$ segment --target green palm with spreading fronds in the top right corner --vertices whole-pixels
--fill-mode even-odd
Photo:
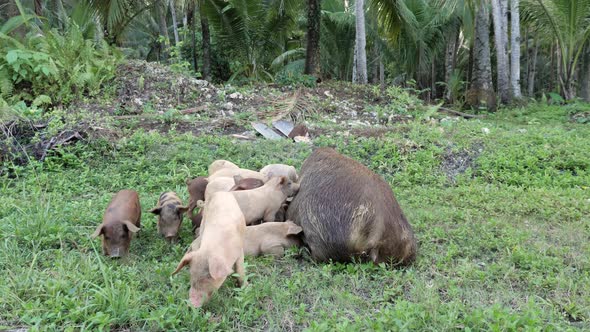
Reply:
[[[522,5],[523,19],[557,40],[562,94],[567,100],[575,98],[578,61],[590,39],[590,0],[524,0]]]

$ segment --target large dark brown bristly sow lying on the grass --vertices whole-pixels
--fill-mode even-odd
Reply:
[[[303,242],[314,259],[414,260],[412,227],[377,174],[333,149],[319,148],[303,163],[300,179],[287,218],[303,228]]]

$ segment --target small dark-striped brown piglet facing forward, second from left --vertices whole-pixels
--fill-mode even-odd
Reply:
[[[158,205],[150,212],[158,216],[158,233],[169,242],[178,241],[178,232],[182,225],[182,217],[188,210],[173,191],[162,193]]]

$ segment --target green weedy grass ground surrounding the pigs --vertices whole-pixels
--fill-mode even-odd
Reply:
[[[326,127],[333,146],[391,184],[419,242],[405,269],[317,264],[304,251],[247,258],[203,309],[189,275],[170,274],[190,222],[169,245],[147,210],[218,158],[299,168],[311,147],[222,135],[129,132],[10,167],[0,184],[0,330],[589,330],[590,127],[587,105],[529,106],[484,120],[412,120],[375,135]],[[319,121],[319,119],[316,119]],[[487,129],[487,130],[486,130]],[[139,192],[128,261],[90,234],[112,195]]]

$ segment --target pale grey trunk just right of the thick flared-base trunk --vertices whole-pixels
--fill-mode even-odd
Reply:
[[[494,20],[494,41],[496,45],[496,60],[498,74],[498,94],[502,104],[510,101],[510,82],[508,78],[507,27],[504,23],[506,0],[492,0],[492,18]]]

